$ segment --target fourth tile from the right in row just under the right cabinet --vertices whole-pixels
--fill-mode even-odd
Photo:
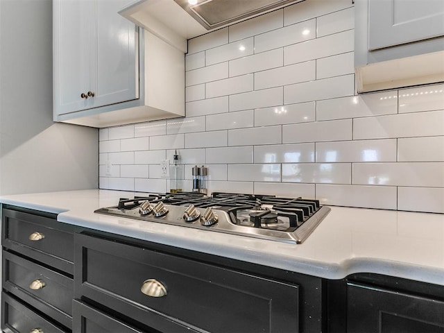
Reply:
[[[206,117],[207,130],[229,130],[253,127],[253,110],[213,114]]]

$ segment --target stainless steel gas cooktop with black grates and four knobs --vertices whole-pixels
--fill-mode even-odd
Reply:
[[[300,244],[330,208],[319,205],[318,200],[300,197],[178,192],[121,198],[118,205],[95,212]]]

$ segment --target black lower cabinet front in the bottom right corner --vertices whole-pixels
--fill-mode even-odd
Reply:
[[[348,333],[444,333],[444,302],[362,284],[347,287]]]

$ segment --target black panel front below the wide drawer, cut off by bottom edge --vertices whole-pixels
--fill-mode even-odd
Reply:
[[[142,333],[79,300],[73,301],[73,332],[76,333]]]

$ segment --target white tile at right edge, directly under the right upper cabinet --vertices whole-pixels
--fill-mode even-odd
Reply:
[[[400,113],[444,110],[444,85],[400,90]]]

